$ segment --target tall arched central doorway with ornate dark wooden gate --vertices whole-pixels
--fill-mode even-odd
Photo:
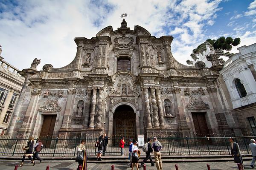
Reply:
[[[128,139],[136,139],[136,116],[130,106],[121,105],[116,108],[113,120],[113,135],[116,136],[115,146],[119,146],[121,136],[125,137],[125,145],[129,144]]]

